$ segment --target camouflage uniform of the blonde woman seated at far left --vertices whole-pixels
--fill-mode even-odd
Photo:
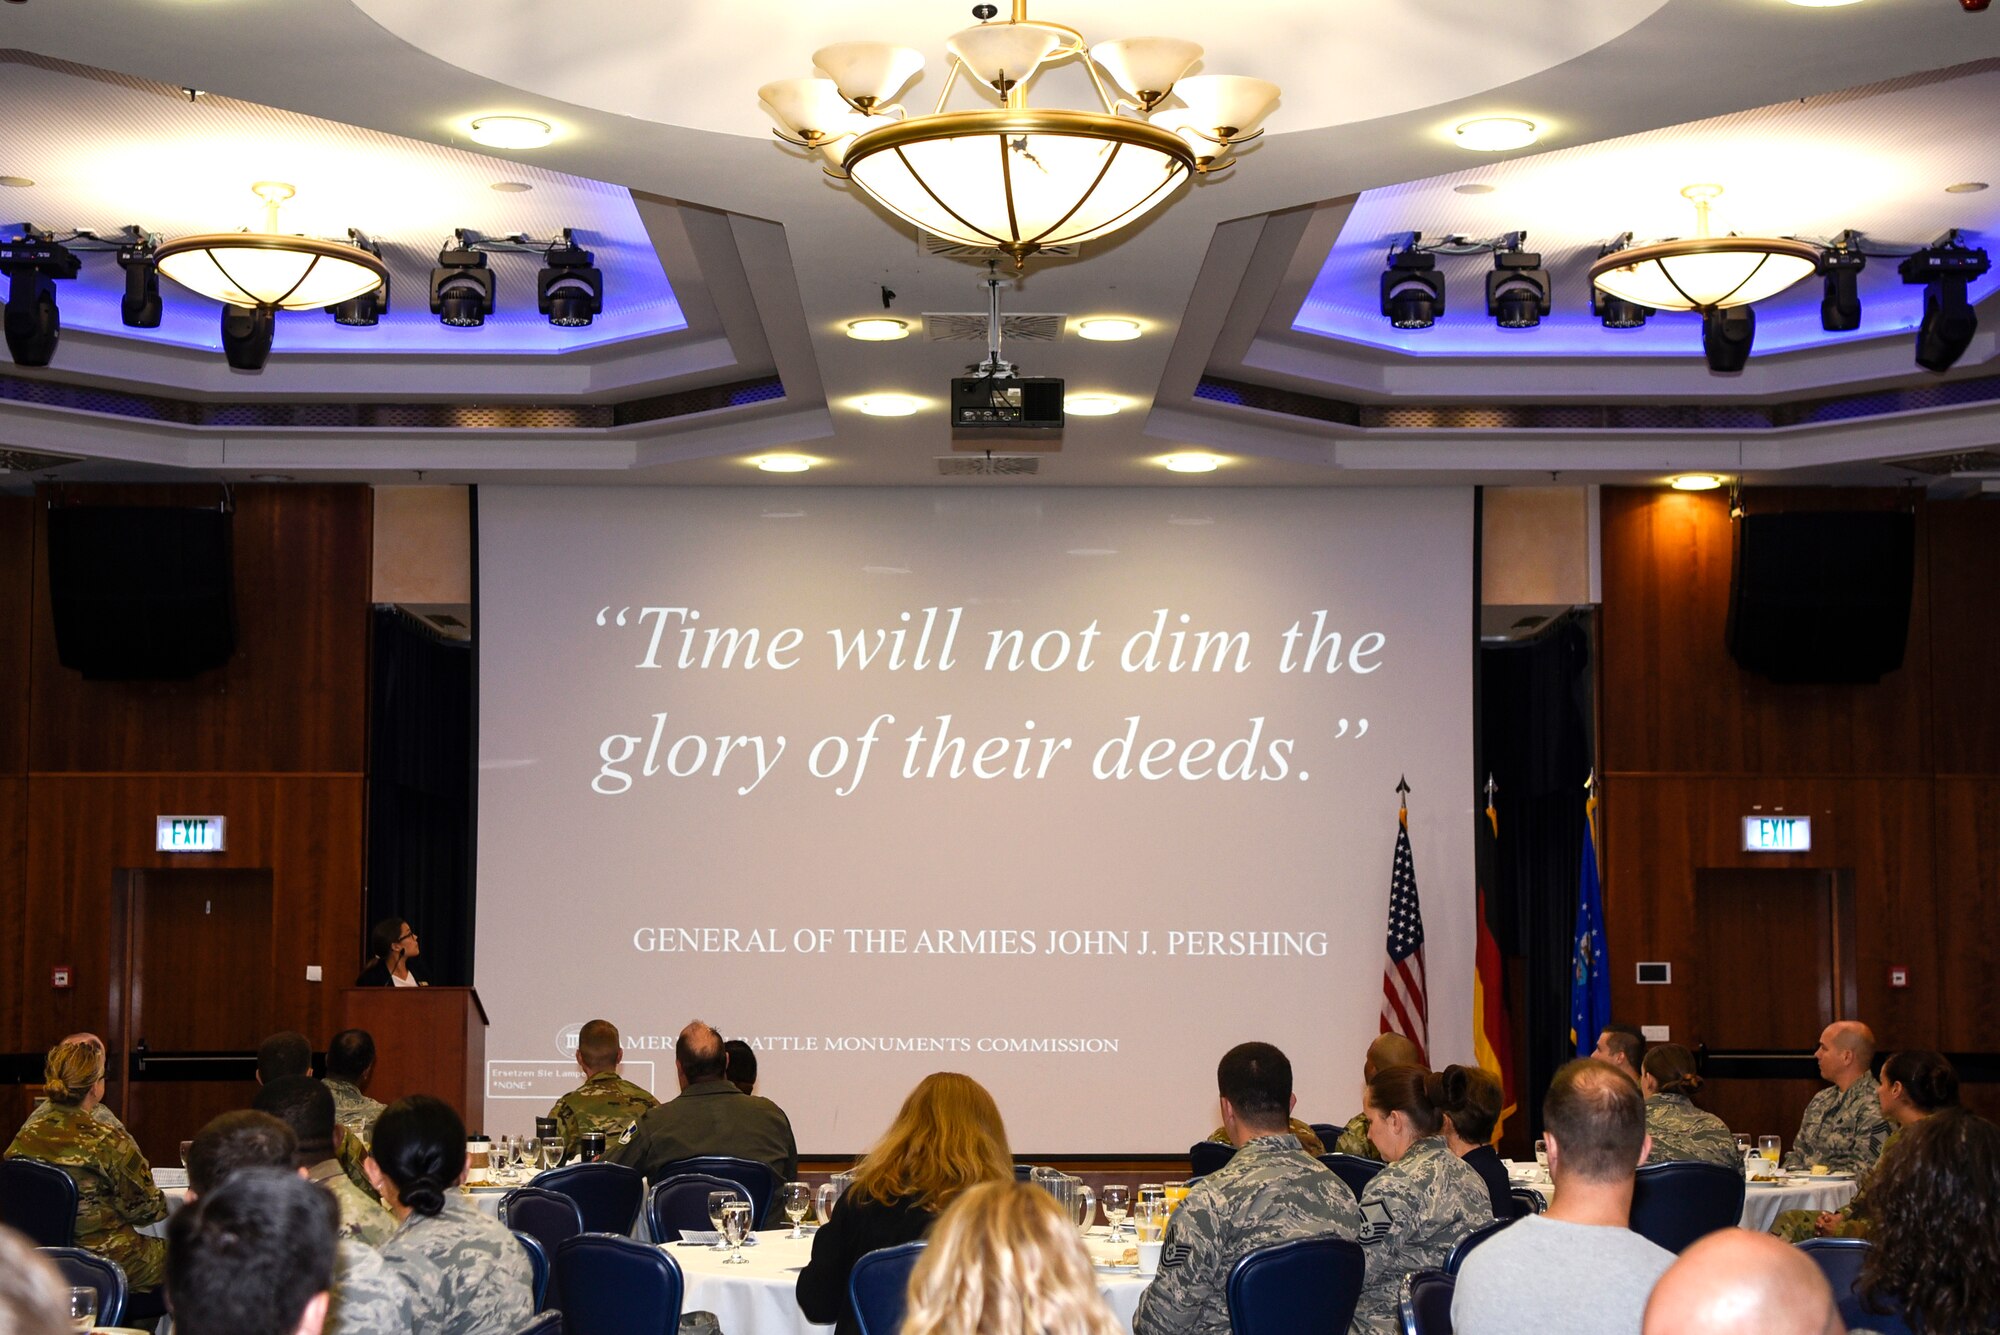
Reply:
[[[138,1141],[74,1103],[52,1103],[28,1119],[6,1157],[62,1167],[76,1179],[76,1245],[124,1267],[134,1289],[160,1287],[166,1241],[138,1229],[166,1219],[166,1197]]]

